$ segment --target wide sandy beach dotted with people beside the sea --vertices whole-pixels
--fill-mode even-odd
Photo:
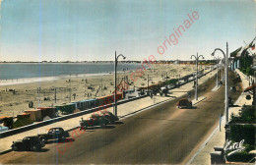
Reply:
[[[200,67],[199,67],[200,68]],[[204,66],[203,66],[204,69]],[[129,86],[129,89],[140,86],[147,86],[148,75],[150,83],[164,81],[166,76],[169,79],[178,79],[185,75],[192,74],[195,70],[193,65],[155,64],[151,70],[145,70],[142,77]],[[117,82],[125,77],[131,83],[129,71],[117,74]],[[13,80],[12,83],[3,83],[0,86],[0,116],[17,116],[25,110],[29,110],[29,102],[33,107],[49,107],[62,103],[96,98],[109,95],[114,90],[114,75],[94,75],[76,77],[55,77],[41,78],[33,83],[28,80]],[[18,84],[15,84],[18,83]],[[8,84],[8,85],[7,85]],[[56,88],[56,102],[54,100]],[[71,88],[71,90],[70,90]],[[14,92],[15,90],[15,92]],[[71,97],[70,97],[71,96]]]

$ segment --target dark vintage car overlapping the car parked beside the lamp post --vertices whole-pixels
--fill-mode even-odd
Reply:
[[[80,121],[81,129],[87,129],[88,127],[95,127],[100,126],[101,128],[104,128],[109,121],[106,117],[99,114],[93,114],[91,115],[87,120],[84,120],[83,118]]]

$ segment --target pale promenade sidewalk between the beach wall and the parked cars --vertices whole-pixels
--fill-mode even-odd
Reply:
[[[205,77],[201,78],[198,82],[199,84],[205,83],[208,79],[210,79],[212,76],[215,75],[216,71],[213,71],[212,73],[206,75]],[[184,84],[182,86],[180,86],[179,88],[175,88],[172,91],[189,91],[192,89],[193,83],[187,83]],[[118,105],[118,116],[122,117],[122,116],[126,116],[128,114],[132,114],[135,113],[137,111],[140,111],[141,109],[146,109],[149,106],[152,106],[154,104],[169,100],[169,99],[173,99],[175,97],[180,97],[183,94],[186,94],[186,92],[174,92],[173,94],[170,94],[170,96],[168,97],[161,97],[160,95],[154,96],[153,98],[150,97],[145,97],[145,98],[141,98],[138,100],[134,100],[131,102],[127,102],[121,105]],[[106,109],[107,111],[113,112],[113,108],[109,107]],[[47,126],[43,126],[37,129],[33,129],[30,130],[28,132],[24,132],[21,134],[17,134],[14,136],[10,136],[7,138],[0,138],[0,154],[1,152],[4,152],[6,150],[10,150],[11,149],[11,144],[14,140],[17,139],[22,139],[25,137],[29,137],[29,136],[35,136],[37,134],[44,134],[46,133],[46,131],[50,128],[54,128],[54,127],[62,127],[64,130],[72,130],[74,128],[79,127],[79,121],[81,120],[81,118],[83,117],[84,119],[87,119],[91,114],[87,114],[87,115],[83,115],[80,117],[76,117],[76,118],[72,118],[69,120],[65,120],[65,121],[61,121],[61,122],[57,122],[51,125],[47,125]]]

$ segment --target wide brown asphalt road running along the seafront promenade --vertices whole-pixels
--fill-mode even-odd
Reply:
[[[212,133],[218,125],[219,114],[224,112],[224,86],[212,92],[215,83],[212,78],[199,87],[199,95],[207,96],[207,99],[194,109],[178,109],[178,99],[170,100],[106,129],[75,130],[70,132],[73,135],[70,141],[51,141],[40,152],[9,152],[0,156],[0,162],[184,163]],[[237,99],[239,94],[240,91],[233,92],[232,99]]]

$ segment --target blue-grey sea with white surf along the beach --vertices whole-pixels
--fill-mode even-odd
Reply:
[[[117,72],[132,72],[141,64],[122,64]],[[114,64],[99,63],[12,63],[0,64],[0,85],[34,83],[68,77],[93,77],[114,74]]]

